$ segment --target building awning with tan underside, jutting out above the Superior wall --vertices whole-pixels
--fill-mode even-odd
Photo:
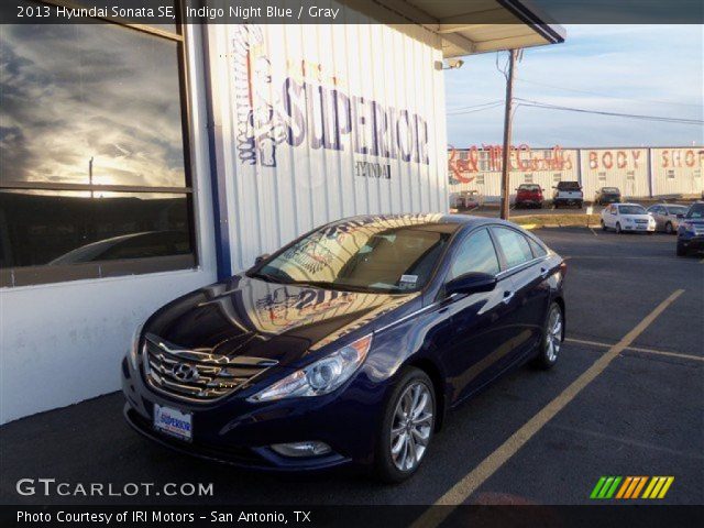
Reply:
[[[530,0],[378,0],[442,36],[446,58],[557,44],[564,29]]]

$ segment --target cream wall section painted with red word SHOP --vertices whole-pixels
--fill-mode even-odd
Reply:
[[[654,195],[696,195],[702,193],[704,148],[652,148]]]

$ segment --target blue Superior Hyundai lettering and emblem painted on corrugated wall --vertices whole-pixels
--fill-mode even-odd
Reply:
[[[241,164],[276,167],[279,148],[301,145],[364,156],[358,176],[391,178],[384,161],[430,164],[425,117],[352,94],[339,72],[302,57],[273,67],[262,26],[239,25],[232,56]]]

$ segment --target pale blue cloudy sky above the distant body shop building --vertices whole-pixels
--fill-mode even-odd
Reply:
[[[566,32],[564,44],[525,51],[515,97],[586,110],[704,119],[702,25],[566,25]],[[446,72],[451,145],[502,142],[506,85],[497,62],[503,68],[506,55],[468,57],[462,68]],[[704,128],[520,106],[513,142],[702,145]]]

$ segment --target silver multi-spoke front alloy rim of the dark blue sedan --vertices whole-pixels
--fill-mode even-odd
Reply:
[[[391,451],[400,471],[415,470],[432,432],[432,395],[428,386],[416,381],[408,385],[396,404],[392,421]]]

